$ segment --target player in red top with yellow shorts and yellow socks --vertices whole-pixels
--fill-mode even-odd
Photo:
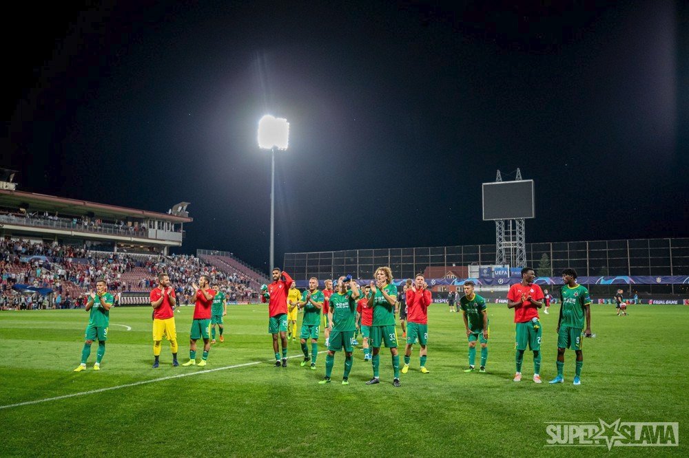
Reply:
[[[160,365],[158,358],[161,356],[161,341],[163,336],[167,337],[172,350],[172,365],[178,366],[177,362],[177,329],[174,324],[174,307],[177,299],[174,288],[170,287],[170,279],[167,274],[158,275],[158,287],[151,291],[149,295],[151,307],[153,307],[153,368]]]

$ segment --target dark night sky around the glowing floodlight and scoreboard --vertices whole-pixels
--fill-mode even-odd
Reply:
[[[267,269],[272,113],[278,263],[494,243],[497,168],[535,179],[528,242],[689,235],[686,2],[119,3],[7,12],[22,190],[189,201],[183,251]]]

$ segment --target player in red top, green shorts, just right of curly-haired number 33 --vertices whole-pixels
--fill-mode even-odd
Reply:
[[[418,339],[421,349],[419,356],[421,359],[420,370],[422,373],[429,373],[426,369],[426,358],[428,350],[426,343],[429,338],[429,305],[431,305],[431,292],[422,274],[418,274],[414,279],[413,285],[407,289],[407,349],[404,351],[404,367],[402,373],[409,371],[411,361],[411,346]]]

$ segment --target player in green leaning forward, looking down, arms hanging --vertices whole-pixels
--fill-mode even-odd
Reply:
[[[488,360],[488,336],[490,333],[488,309],[484,298],[474,291],[473,281],[464,282],[464,297],[460,298],[460,308],[462,309],[462,319],[466,337],[469,340],[469,369],[464,372],[473,372],[476,362],[476,341],[481,344],[481,366],[480,372],[486,371],[486,361]]]

